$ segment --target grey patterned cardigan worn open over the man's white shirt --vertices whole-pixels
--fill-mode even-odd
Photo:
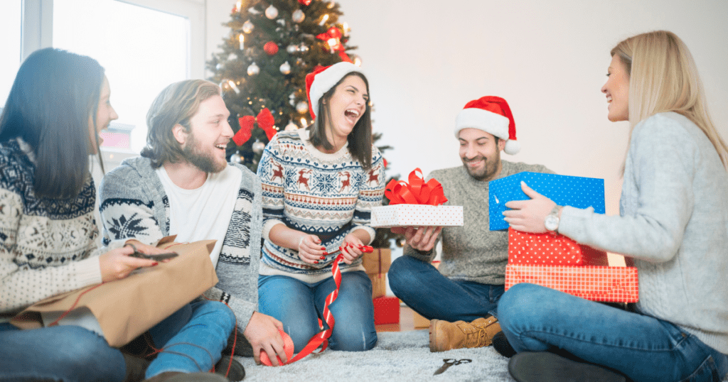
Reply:
[[[215,273],[218,284],[205,297],[228,303],[237,317],[237,326],[245,330],[258,308],[258,259],[260,258],[263,221],[261,186],[253,172],[239,164],[242,179],[230,224],[223,240]],[[125,159],[108,172],[99,189],[103,243],[134,238],[145,244],[157,244],[170,235],[170,205],[165,188],[141,156]]]

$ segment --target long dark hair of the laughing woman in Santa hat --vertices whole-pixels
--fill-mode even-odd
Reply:
[[[364,84],[366,85],[366,92],[369,94],[369,81],[367,81],[363,73],[352,71],[346,76],[341,77],[339,82],[336,82],[336,85],[333,85],[328,92],[325,92],[318,102],[316,120],[310,128],[311,138],[309,138],[309,142],[311,142],[313,146],[321,146],[326,150],[331,150],[333,148],[331,142],[329,142],[326,138],[326,122],[331,117],[331,109],[328,107],[328,103],[324,104],[324,101],[331,99],[331,96],[336,91],[336,87],[338,87],[339,84],[341,84],[341,82],[348,76],[359,76],[364,81]],[[360,117],[359,121],[357,121],[357,124],[355,124],[354,130],[352,130],[349,134],[347,140],[349,142],[349,153],[362,164],[364,170],[371,169],[372,140],[371,108],[369,107],[369,100],[366,100],[364,114]]]

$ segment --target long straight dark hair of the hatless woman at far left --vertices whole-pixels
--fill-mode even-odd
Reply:
[[[96,126],[103,76],[93,58],[54,48],[20,65],[0,114],[0,142],[22,138],[33,148],[36,197],[66,199],[84,187],[91,145],[98,148],[98,137],[89,142],[89,120]]]

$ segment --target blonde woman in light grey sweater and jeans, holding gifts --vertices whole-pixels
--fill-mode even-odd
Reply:
[[[533,284],[498,313],[518,352],[516,381],[722,381],[728,375],[728,147],[705,109],[689,50],[670,32],[612,49],[601,89],[609,120],[630,122],[620,216],[531,200],[504,213],[515,229],[556,231],[622,253],[639,269],[635,312]],[[553,219],[552,219],[553,220]],[[550,227],[553,228],[553,227]]]

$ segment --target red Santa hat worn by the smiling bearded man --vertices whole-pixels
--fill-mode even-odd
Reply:
[[[515,122],[506,100],[493,95],[472,100],[465,104],[455,119],[455,137],[460,130],[472,128],[488,132],[505,140],[506,154],[518,154],[521,143],[515,139]]]

